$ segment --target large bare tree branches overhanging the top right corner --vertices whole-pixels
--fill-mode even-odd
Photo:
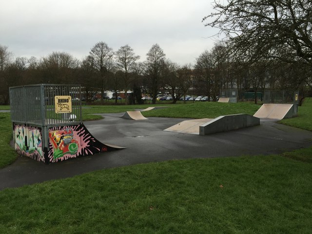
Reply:
[[[203,21],[220,29],[232,53],[251,62],[273,58],[311,69],[311,9],[311,0],[215,0],[214,13]]]

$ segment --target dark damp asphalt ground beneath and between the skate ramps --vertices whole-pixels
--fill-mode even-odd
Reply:
[[[312,132],[273,120],[262,119],[259,126],[199,136],[163,131],[186,119],[149,117],[147,120],[129,120],[120,118],[123,114],[103,114],[104,119],[84,124],[99,141],[126,149],[49,165],[20,156],[12,165],[0,169],[0,190],[138,163],[269,155],[312,145]]]

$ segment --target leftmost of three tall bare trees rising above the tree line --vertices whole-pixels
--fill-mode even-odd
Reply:
[[[107,43],[100,41],[96,43],[90,51],[90,56],[94,60],[94,66],[99,74],[98,87],[101,90],[101,103],[104,103],[104,91],[108,83],[108,72],[113,65],[113,48]]]

